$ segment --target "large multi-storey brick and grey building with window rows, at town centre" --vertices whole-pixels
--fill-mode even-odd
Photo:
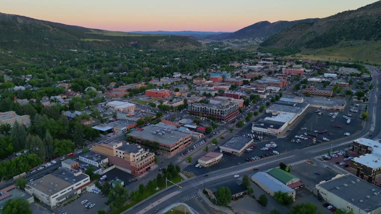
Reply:
[[[239,104],[231,101],[217,105],[193,103],[189,107],[189,112],[194,115],[201,114],[204,117],[212,116],[219,121],[229,121],[240,113]]]

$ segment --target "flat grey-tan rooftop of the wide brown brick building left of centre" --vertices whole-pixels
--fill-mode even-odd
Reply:
[[[128,133],[127,136],[151,142],[158,142],[165,145],[173,145],[180,139],[190,137],[191,135],[184,132],[160,128],[155,125],[149,125]]]

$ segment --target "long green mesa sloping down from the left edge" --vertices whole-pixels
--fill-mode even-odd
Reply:
[[[7,50],[113,47],[178,49],[200,46],[191,37],[90,29],[5,13],[0,13],[0,29],[0,48]]]

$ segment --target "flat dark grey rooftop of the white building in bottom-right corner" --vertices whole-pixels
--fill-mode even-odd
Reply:
[[[381,188],[351,174],[333,178],[316,186],[320,186],[366,213],[381,207]]]

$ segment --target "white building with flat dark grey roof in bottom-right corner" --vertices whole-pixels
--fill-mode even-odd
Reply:
[[[319,196],[337,209],[355,214],[381,213],[381,188],[354,175],[336,175],[316,185]]]

